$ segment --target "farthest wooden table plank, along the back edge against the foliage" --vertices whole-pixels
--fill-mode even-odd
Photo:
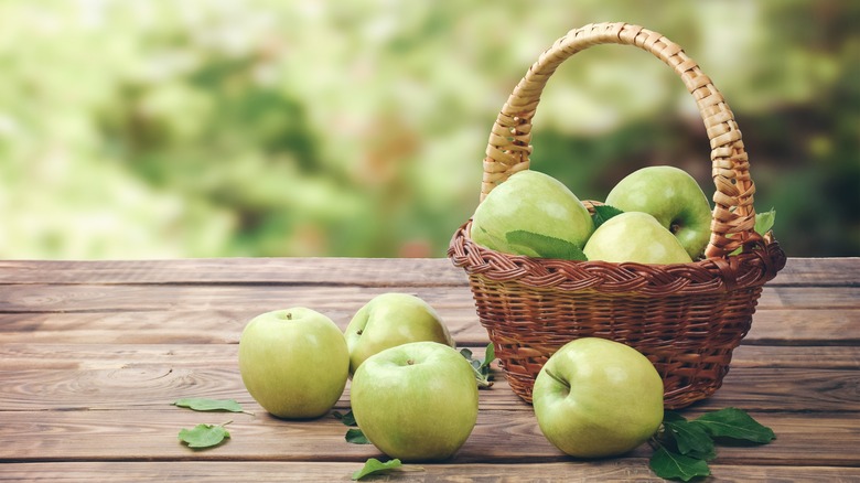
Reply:
[[[448,258],[0,260],[0,283],[282,283],[464,286]],[[768,286],[860,286],[860,257],[789,258]]]

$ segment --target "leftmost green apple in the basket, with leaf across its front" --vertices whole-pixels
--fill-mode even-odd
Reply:
[[[487,194],[472,216],[479,245],[510,255],[583,259],[594,222],[582,202],[539,171],[514,173]]]

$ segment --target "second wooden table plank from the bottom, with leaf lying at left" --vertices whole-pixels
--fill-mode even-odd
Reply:
[[[860,465],[860,419],[841,415],[751,412],[777,438],[757,447],[721,446],[716,464]],[[15,411],[0,425],[0,461],[341,461],[384,458],[372,444],[344,440],[346,427],[332,417],[284,421],[258,411],[203,414],[164,410]],[[181,444],[181,428],[228,426],[229,440],[209,451]],[[810,448],[816,451],[811,452]],[[649,458],[647,444],[626,458]],[[527,410],[482,410],[477,425],[451,463],[552,463],[569,460],[544,438]]]

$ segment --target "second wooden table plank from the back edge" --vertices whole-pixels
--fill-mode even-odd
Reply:
[[[316,307],[357,311],[374,296],[400,291],[433,307],[474,307],[464,287],[13,285],[3,287],[0,312],[164,310],[273,310]],[[765,287],[759,310],[860,309],[860,287]]]

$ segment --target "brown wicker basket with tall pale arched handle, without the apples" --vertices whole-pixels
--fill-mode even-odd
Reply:
[[[484,159],[481,200],[529,168],[531,119],[559,64],[606,43],[651,52],[675,69],[697,101],[716,186],[706,258],[642,265],[512,256],[473,243],[471,221],[454,234],[448,255],[465,269],[481,324],[510,387],[526,401],[556,350],[578,337],[599,336],[645,354],[664,379],[666,407],[680,408],[720,387],[732,351],[750,330],[763,285],[785,266],[772,236],[753,230],[755,189],[741,131],[698,65],[677,44],[641,26],[600,23],[570,31],[540,55],[499,112]],[[739,247],[740,255],[728,255]]]

